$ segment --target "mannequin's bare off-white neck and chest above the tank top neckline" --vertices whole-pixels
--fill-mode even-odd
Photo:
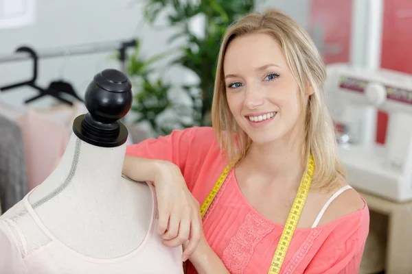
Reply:
[[[124,256],[148,234],[152,191],[122,177],[125,149],[89,145],[73,134],[56,169],[28,197],[49,232],[78,253]]]

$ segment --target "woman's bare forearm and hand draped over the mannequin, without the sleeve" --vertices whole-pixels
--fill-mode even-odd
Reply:
[[[135,181],[152,182],[159,212],[157,233],[168,247],[178,247],[189,240],[182,260],[190,257],[201,239],[202,219],[198,201],[187,188],[179,166],[166,160],[126,155],[122,172]]]

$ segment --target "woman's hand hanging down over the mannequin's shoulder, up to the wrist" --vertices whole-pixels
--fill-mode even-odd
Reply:
[[[183,245],[182,260],[196,250],[202,235],[199,203],[187,189],[178,166],[163,162],[154,180],[159,209],[158,233],[168,247]]]

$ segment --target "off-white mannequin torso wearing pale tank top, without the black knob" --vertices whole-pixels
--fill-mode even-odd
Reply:
[[[125,151],[72,134],[53,173],[1,216],[0,245],[12,239],[24,273],[183,273],[181,247],[157,234],[155,189],[121,175]]]

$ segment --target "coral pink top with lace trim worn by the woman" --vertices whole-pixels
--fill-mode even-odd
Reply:
[[[225,169],[210,127],[175,130],[127,148],[128,155],[168,160],[178,165],[187,186],[205,201]],[[203,218],[205,237],[230,273],[268,273],[284,226],[268,221],[244,198],[233,171],[229,173]],[[295,230],[281,273],[358,273],[367,234],[369,210],[362,210],[319,227]],[[196,273],[188,264],[188,273]]]

